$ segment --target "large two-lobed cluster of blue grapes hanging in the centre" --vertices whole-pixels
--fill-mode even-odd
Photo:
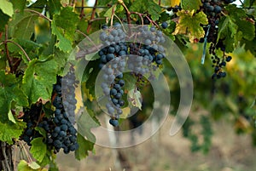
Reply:
[[[163,23],[163,27],[167,26],[167,23]],[[162,31],[154,26],[137,28],[134,37],[139,43],[125,42],[126,37],[120,24],[115,24],[111,29],[104,26],[100,34],[100,39],[105,45],[105,48],[98,52],[99,67],[104,73],[101,87],[103,93],[109,97],[106,108],[111,115],[109,123],[114,127],[119,125],[119,115],[123,112],[121,108],[125,105],[123,72],[126,63],[134,76],[140,78],[144,74],[151,74],[153,77],[152,70],[160,66],[165,57],[165,49],[160,45],[165,43],[165,37]]]

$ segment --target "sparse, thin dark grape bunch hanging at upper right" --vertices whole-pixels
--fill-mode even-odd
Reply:
[[[212,67],[214,68],[214,73],[212,74],[212,79],[226,77],[226,72],[224,67],[226,62],[230,62],[231,56],[225,54],[225,46],[223,40],[218,38],[218,21],[223,15],[224,6],[228,3],[234,3],[235,0],[201,0],[202,6],[201,10],[207,14],[208,26],[204,27],[206,32],[207,42],[211,43],[209,54],[212,55]],[[204,42],[204,39],[201,39]],[[205,42],[205,43],[207,43]],[[220,57],[217,55],[216,50],[220,49],[223,51],[223,55]]]

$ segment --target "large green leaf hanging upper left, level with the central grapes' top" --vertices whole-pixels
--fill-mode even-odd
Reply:
[[[67,22],[68,21],[68,22]],[[55,14],[51,23],[52,34],[57,37],[55,46],[63,52],[72,50],[73,34],[79,22],[78,14],[72,8],[61,9],[60,14]]]

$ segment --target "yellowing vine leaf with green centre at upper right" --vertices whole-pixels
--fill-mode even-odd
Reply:
[[[199,12],[195,14],[195,10],[185,11],[181,10],[177,12],[177,16],[179,16],[179,22],[174,35],[177,34],[189,34],[189,41],[191,43],[194,42],[195,38],[201,38],[205,36],[205,31],[202,28],[202,25],[207,25],[207,15],[203,12]]]

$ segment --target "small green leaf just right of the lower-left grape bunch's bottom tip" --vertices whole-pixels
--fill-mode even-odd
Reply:
[[[75,151],[75,157],[78,160],[82,160],[83,158],[88,156],[88,151],[93,150],[94,143],[84,139],[84,136],[82,136],[81,134],[78,134],[78,143],[79,149]]]

